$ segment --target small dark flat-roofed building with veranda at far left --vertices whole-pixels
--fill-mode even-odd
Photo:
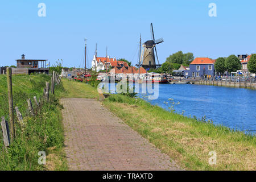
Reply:
[[[25,55],[22,55],[22,59],[17,59],[17,68],[15,68],[16,73],[22,73],[24,70],[27,71],[26,74],[30,73],[49,73],[49,67],[44,59],[25,59]],[[21,72],[19,72],[21,71]],[[25,73],[25,72],[24,72]]]

